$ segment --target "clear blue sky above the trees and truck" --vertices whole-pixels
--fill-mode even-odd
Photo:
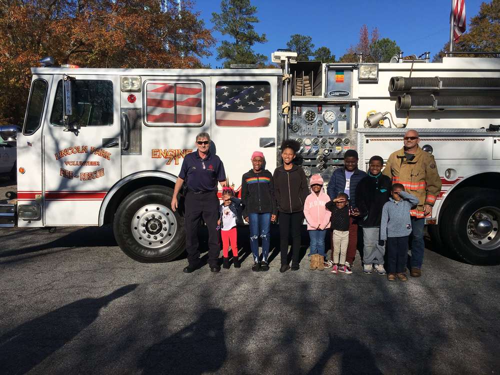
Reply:
[[[481,2],[465,0],[467,29]],[[257,7],[260,20],[255,29],[265,32],[268,40],[255,45],[254,51],[268,57],[277,48],[286,48],[294,33],[311,36],[315,48],[327,46],[340,57],[349,45],[357,43],[363,23],[370,31],[378,27],[380,37],[395,40],[405,55],[429,50],[432,57],[449,39],[451,0],[251,0],[251,3]],[[194,10],[200,12],[207,27],[212,27],[211,13],[220,11],[220,1],[195,0]],[[213,36],[217,39],[216,46],[219,45],[222,35],[214,31]],[[215,47],[212,56],[202,59],[212,68],[221,65],[215,58]]]

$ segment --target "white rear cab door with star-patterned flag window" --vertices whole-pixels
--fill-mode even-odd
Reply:
[[[264,154],[271,173],[276,167],[276,87],[276,77],[212,77],[211,137],[236,191],[253,151]]]

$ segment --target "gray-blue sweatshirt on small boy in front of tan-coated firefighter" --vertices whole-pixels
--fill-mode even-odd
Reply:
[[[399,194],[401,199],[392,197],[383,205],[380,221],[380,239],[387,237],[405,237],[411,233],[409,210],[418,203],[418,198],[406,191]]]

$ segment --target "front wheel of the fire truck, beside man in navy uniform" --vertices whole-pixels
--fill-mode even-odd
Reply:
[[[170,208],[172,189],[152,185],[130,193],[114,215],[118,246],[143,263],[164,262],[184,251],[184,220]]]

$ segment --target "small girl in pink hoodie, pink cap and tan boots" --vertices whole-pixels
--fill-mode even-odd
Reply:
[[[309,232],[309,269],[323,270],[324,265],[324,236],[326,228],[330,226],[331,212],[325,208],[325,204],[330,200],[329,196],[323,192],[323,179],[319,174],[311,175],[309,180],[311,193],[304,203],[304,216],[307,221],[307,231]]]

